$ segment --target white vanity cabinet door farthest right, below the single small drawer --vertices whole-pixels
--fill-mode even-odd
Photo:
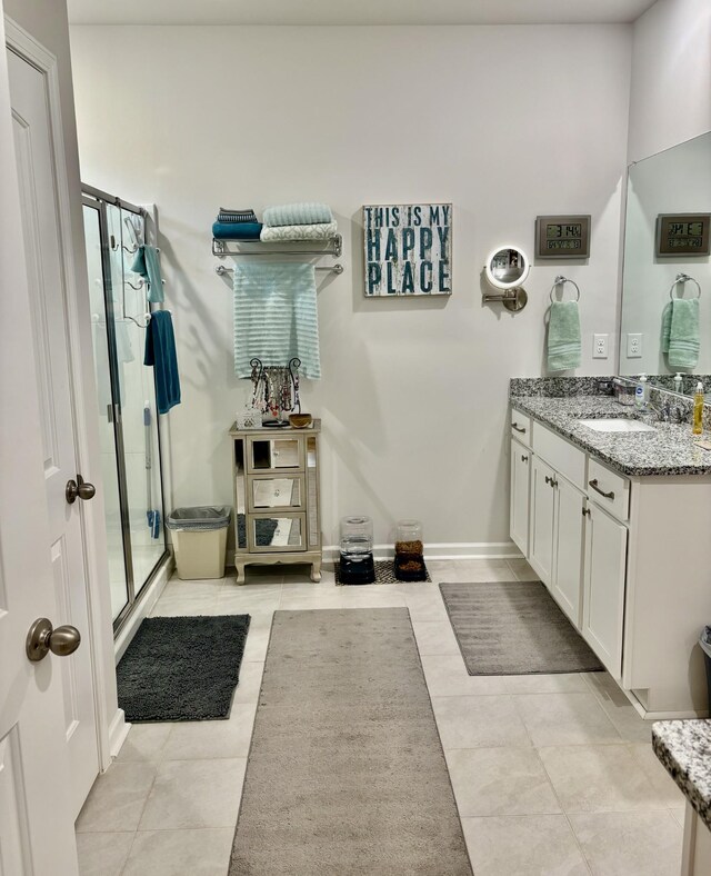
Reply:
[[[627,527],[593,502],[585,524],[582,635],[613,678],[622,673]]]

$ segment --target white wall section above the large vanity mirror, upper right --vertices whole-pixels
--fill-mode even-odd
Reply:
[[[711,130],[711,3],[658,0],[634,22],[629,160]]]

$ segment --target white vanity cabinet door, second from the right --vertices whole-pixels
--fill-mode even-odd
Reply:
[[[582,624],[582,548],[585,497],[558,476],[555,486],[555,563],[552,594],[578,629]]]

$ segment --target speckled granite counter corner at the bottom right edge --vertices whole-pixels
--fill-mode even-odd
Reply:
[[[652,747],[684,797],[711,828],[711,720],[662,720]]]

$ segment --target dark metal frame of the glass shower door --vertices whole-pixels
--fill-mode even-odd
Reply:
[[[118,207],[120,210],[126,210],[128,212],[133,213],[134,216],[140,216],[143,219],[143,227],[146,227],[146,210],[137,207],[129,201],[124,201],[120,198],[117,198],[113,195],[109,195],[106,191],[101,191],[101,189],[97,189],[93,186],[87,186],[86,183],[81,183],[81,202],[83,207],[89,207],[92,210],[96,210],[99,215],[99,235],[101,240],[101,278],[103,281],[103,307],[106,312],[106,325],[107,325],[107,340],[108,340],[108,352],[109,352],[109,374],[111,376],[111,425],[113,426],[113,441],[116,446],[116,456],[117,456],[117,475],[118,475],[118,485],[119,485],[119,507],[121,514],[121,540],[123,545],[123,564],[126,568],[126,586],[128,589],[128,601],[126,606],[121,609],[121,611],[117,615],[113,620],[113,637],[116,638],[121,628],[129,619],[129,617],[133,614],[134,609],[139,605],[141,599],[141,595],[146,594],[149,589],[149,585],[159,573],[161,565],[169,556],[170,551],[168,550],[168,544],[166,540],[166,534],[163,528],[163,551],[160,557],[157,559],[153,568],[146,577],[146,579],[140,585],[138,591],[136,589],[136,580],[133,578],[133,557],[132,557],[132,547],[131,547],[131,521],[130,521],[130,514],[129,514],[129,491],[128,491],[128,479],[127,479],[127,471],[126,471],[126,452],[124,452],[124,445],[123,445],[123,420],[121,417],[120,405],[117,404],[117,388],[120,387],[120,375],[119,375],[119,362],[117,356],[117,342],[116,342],[116,312],[114,312],[114,296],[113,296],[113,282],[111,279],[111,242],[109,240],[109,217],[107,211],[107,205],[112,205]],[[123,236],[121,236],[121,241]],[[121,243],[120,243],[121,246]],[[121,255],[123,258],[123,255]],[[123,289],[121,289],[121,296],[123,296]],[[123,300],[123,298],[121,298]],[[150,309],[150,305],[148,305]],[[163,481],[163,449],[161,446],[161,437],[160,437],[160,428],[158,424],[158,419],[156,419],[156,437],[158,441],[158,471],[159,471],[159,480],[161,486],[161,520],[166,520],[166,505],[164,505],[164,481]],[[161,525],[164,527],[164,522]]]

